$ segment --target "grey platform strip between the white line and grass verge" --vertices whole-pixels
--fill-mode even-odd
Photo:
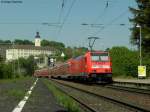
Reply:
[[[22,112],[65,112],[41,79],[38,80]]]

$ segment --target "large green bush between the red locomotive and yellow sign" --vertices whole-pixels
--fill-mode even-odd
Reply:
[[[113,47],[110,50],[113,75],[137,77],[138,53],[126,47]]]

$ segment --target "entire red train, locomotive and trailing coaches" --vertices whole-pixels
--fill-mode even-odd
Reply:
[[[112,82],[112,62],[107,51],[88,51],[54,67],[36,70],[36,77],[82,82]]]

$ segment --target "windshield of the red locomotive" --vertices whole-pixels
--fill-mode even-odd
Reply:
[[[92,61],[109,61],[108,53],[91,53]]]

